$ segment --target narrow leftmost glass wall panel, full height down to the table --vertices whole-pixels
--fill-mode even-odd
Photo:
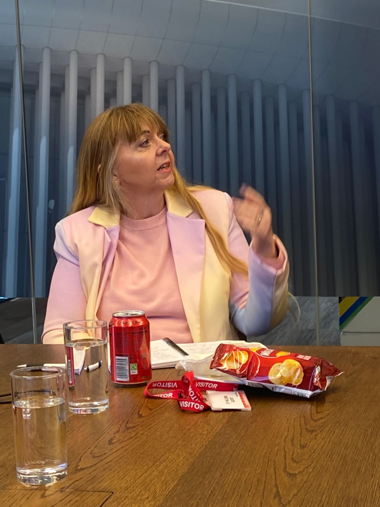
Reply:
[[[33,342],[15,3],[0,1],[0,342]],[[33,111],[25,107],[26,121]]]

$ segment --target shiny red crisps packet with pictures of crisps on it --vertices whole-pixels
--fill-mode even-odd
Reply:
[[[319,357],[224,343],[215,350],[210,368],[239,377],[252,387],[306,398],[325,391],[342,373]]]

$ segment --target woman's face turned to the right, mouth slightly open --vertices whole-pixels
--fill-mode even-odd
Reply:
[[[165,190],[174,184],[174,156],[162,132],[143,126],[141,136],[120,145],[113,174],[126,190]]]

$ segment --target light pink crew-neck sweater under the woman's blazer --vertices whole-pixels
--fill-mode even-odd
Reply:
[[[175,272],[166,207],[145,220],[123,217],[112,271],[98,318],[110,321],[119,310],[144,310],[150,339],[192,342]]]

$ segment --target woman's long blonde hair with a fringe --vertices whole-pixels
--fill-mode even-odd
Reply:
[[[70,214],[95,205],[111,213],[123,213],[129,205],[123,189],[115,183],[112,169],[115,166],[121,142],[134,142],[142,132],[142,126],[162,132],[169,138],[163,119],[142,104],[111,107],[100,114],[89,126],[83,138],[77,164],[77,190]],[[194,190],[186,184],[176,167],[173,167],[174,185],[170,191],[181,197],[201,219],[216,255],[226,270],[248,276],[247,265],[234,257],[227,248],[222,235],[207,219],[201,203],[194,197]]]

